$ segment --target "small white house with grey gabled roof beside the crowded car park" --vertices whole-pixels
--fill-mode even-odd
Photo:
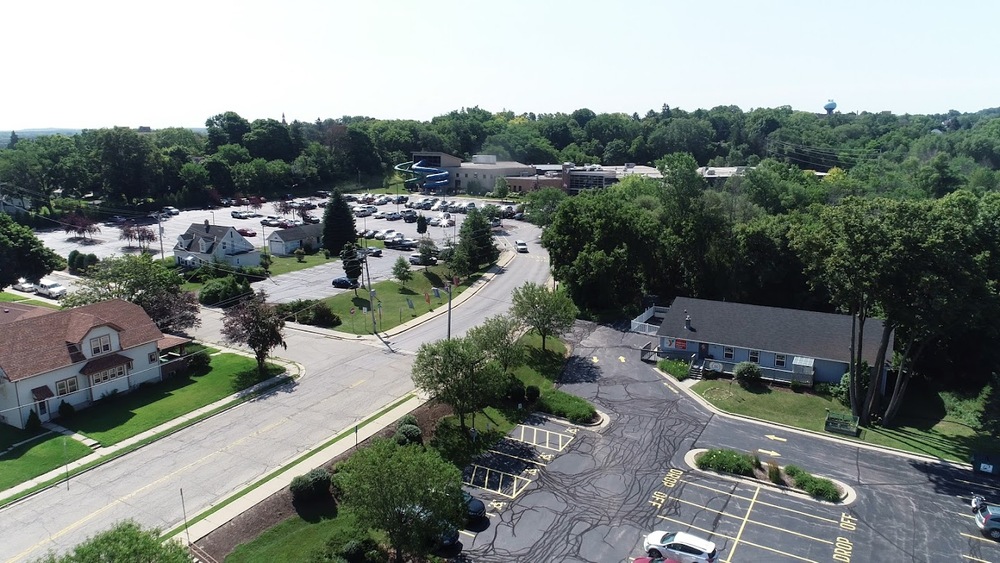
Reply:
[[[235,227],[192,223],[174,245],[174,261],[179,266],[197,268],[202,264],[225,262],[235,267],[260,266],[260,252]]]

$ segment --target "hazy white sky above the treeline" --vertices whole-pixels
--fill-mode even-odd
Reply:
[[[17,0],[0,130],[1000,106],[994,0]]]

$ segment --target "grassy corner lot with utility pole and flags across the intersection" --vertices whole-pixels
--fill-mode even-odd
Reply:
[[[374,258],[374,260],[378,260],[378,258]],[[382,260],[394,260],[394,258],[387,257],[382,258]],[[373,285],[376,319],[379,318],[378,306],[382,305],[381,320],[378,324],[379,332],[397,327],[424,313],[434,311],[438,307],[448,306],[448,293],[440,290],[439,296],[435,297],[432,289],[444,287],[448,279],[447,266],[442,264],[426,269],[423,266],[415,266],[411,271],[413,279],[405,286],[396,280],[381,281]],[[473,274],[461,280],[462,283],[455,289],[455,297],[469,289],[469,286],[481,276],[482,274]],[[340,295],[328,297],[324,301],[343,321],[343,324],[338,326],[336,330],[350,334],[371,334],[371,300],[369,300],[364,288],[359,289],[356,296],[354,293],[346,291]],[[430,304],[427,303],[425,294],[430,296]],[[406,302],[407,298],[413,302],[413,309],[409,308]],[[363,308],[368,308],[367,315],[362,312]],[[354,309],[353,315],[351,315],[351,309]]]

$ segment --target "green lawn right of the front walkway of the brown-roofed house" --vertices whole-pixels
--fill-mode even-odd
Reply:
[[[61,423],[102,445],[116,444],[232,394],[239,387],[236,382],[245,378],[242,374],[256,369],[251,358],[219,354],[212,356],[205,375],[178,374],[115,397],[108,404],[81,410]]]

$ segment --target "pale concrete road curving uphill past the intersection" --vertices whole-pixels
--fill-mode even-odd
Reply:
[[[514,287],[547,281],[544,250],[531,248],[454,309],[453,334],[506,312]],[[202,321],[195,336],[219,341],[219,314],[206,310]],[[394,353],[371,340],[288,330],[279,355],[304,366],[304,377],[0,510],[0,561],[63,552],[122,519],[181,524],[182,489],[187,514],[197,514],[411,392],[413,353],[446,332],[446,315],[436,316],[394,338]]]

